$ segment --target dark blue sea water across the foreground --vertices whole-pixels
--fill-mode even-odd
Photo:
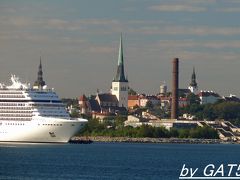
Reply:
[[[179,179],[183,165],[240,163],[234,144],[0,144],[0,179]]]

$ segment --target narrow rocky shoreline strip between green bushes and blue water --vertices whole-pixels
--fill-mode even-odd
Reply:
[[[74,142],[112,142],[112,143],[178,143],[178,144],[239,144],[234,141],[221,139],[195,139],[195,138],[130,138],[130,137],[109,137],[109,136],[74,136]]]

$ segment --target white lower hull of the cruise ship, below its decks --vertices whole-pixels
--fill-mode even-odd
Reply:
[[[40,118],[32,121],[0,121],[1,142],[66,143],[87,122],[85,119],[67,120]]]

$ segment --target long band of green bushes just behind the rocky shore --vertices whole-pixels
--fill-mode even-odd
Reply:
[[[121,117],[112,126],[109,122],[100,123],[98,119],[90,119],[88,124],[81,130],[79,135],[85,136],[110,136],[110,137],[151,137],[151,138],[206,138],[218,139],[216,130],[210,127],[197,127],[192,129],[176,129],[167,130],[165,127],[152,127],[142,125],[137,128],[131,126],[123,126]]]

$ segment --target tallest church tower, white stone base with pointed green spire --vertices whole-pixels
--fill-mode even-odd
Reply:
[[[120,36],[117,74],[112,81],[111,92],[119,102],[119,107],[128,108],[128,80],[124,75],[122,35]]]

